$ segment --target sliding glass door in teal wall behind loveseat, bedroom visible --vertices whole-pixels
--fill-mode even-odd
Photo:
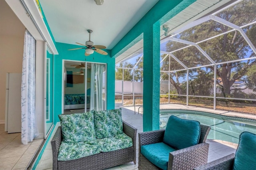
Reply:
[[[64,60],[63,113],[106,109],[106,64]]]

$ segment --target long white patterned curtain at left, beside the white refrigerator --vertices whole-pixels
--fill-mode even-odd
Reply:
[[[39,136],[36,125],[36,40],[25,31],[21,83],[21,142],[28,144]]]

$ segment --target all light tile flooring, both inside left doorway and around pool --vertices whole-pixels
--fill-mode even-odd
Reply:
[[[138,106],[139,107],[139,106]],[[136,113],[138,113],[138,107],[136,107]],[[119,108],[119,107],[116,107]],[[237,117],[246,117],[249,119],[256,119],[255,115],[245,115],[240,113],[228,112],[228,111],[218,111],[212,109],[205,109],[200,107],[187,107],[184,105],[167,104],[160,105],[160,109],[191,109],[198,111],[209,111],[221,115],[235,115]],[[140,109],[141,113],[142,109]],[[142,132],[142,115],[134,114],[134,107],[122,107],[122,118],[126,122],[130,123],[138,129],[138,132]],[[57,125],[56,127],[58,127]],[[54,134],[54,132],[53,132]],[[138,139],[138,136],[137,136]],[[4,132],[4,125],[0,125],[0,170],[24,170],[28,166],[32,156],[39,147],[42,139],[36,139],[33,142],[28,143],[28,145],[21,144],[20,133],[8,134]],[[207,140],[210,144],[208,162],[216,160],[223,156],[236,151],[237,144],[233,144],[226,141],[220,140]],[[138,148],[138,142],[137,142]],[[138,149],[137,149],[137,162],[138,162]],[[46,144],[42,158],[40,159],[36,170],[50,170],[52,169],[52,148],[50,142]],[[137,170],[138,163],[134,165],[132,162],[116,166],[114,168],[109,168],[109,170]]]

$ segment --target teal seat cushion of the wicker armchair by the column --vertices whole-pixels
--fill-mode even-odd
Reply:
[[[169,153],[176,149],[170,147],[164,142],[143,145],[140,148],[140,152],[145,156],[152,164],[157,167],[167,170]]]

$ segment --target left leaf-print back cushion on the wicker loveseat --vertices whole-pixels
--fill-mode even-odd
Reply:
[[[94,129],[94,111],[58,115],[64,142],[82,142],[96,139]]]

